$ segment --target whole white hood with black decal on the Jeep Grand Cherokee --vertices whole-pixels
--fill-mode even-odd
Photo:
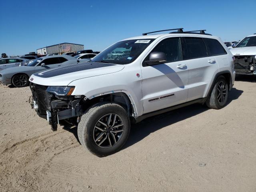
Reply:
[[[115,73],[123,68],[124,65],[84,62],[35,73],[30,77],[30,82],[46,86],[67,86],[74,80]]]

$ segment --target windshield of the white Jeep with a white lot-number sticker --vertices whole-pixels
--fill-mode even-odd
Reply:
[[[91,62],[129,64],[154,41],[154,39],[133,39],[120,41],[92,58]]]

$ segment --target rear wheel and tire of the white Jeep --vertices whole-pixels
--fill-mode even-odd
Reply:
[[[214,87],[210,92],[206,105],[212,109],[223,108],[228,100],[228,83],[224,76],[218,76],[214,82]]]

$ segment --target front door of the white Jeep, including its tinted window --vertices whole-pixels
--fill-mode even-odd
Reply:
[[[164,52],[167,62],[142,64],[143,113],[186,102],[188,96],[187,61],[182,60],[181,38],[167,38],[151,52]],[[148,60],[149,54],[145,60]]]

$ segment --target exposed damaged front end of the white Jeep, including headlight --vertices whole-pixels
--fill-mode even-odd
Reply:
[[[59,125],[75,126],[79,121],[84,96],[72,96],[74,87],[43,86],[30,83],[32,101],[38,116],[47,119],[53,131]]]

